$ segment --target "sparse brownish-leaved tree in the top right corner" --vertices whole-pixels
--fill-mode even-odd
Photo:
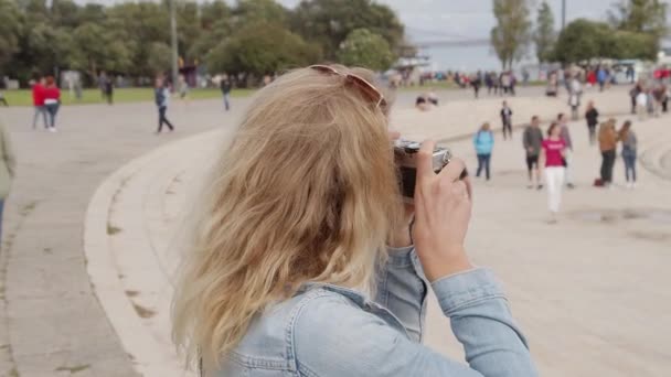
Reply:
[[[667,8],[661,0],[620,0],[608,15],[618,30],[647,33],[659,40],[668,33]]]

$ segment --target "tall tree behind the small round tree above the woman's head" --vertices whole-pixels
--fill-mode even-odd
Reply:
[[[354,30],[365,28],[382,35],[392,52],[403,43],[403,24],[394,11],[371,0],[302,0],[291,17],[291,29],[321,46],[329,60]]]

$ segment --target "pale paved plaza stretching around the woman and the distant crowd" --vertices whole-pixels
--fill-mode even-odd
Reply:
[[[548,120],[566,98],[521,90],[514,123]],[[470,136],[500,128],[500,97],[443,91],[429,112],[398,95],[392,125],[440,140],[475,172]],[[626,88],[588,91],[627,118]],[[61,129],[30,128],[32,109],[0,109],[19,157],[0,255],[0,376],[191,376],[170,343],[170,298],[191,203],[248,99],[174,101],[174,133],[156,136],[151,103],[65,107]],[[671,117],[633,122],[639,187],[590,186],[600,155],[571,125],[577,187],[547,224],[546,192],[526,188],[521,131],[497,134],[490,183],[475,181],[468,250],[503,282],[543,376],[665,376],[671,370]],[[432,299],[433,300],[433,299]],[[462,357],[429,304],[425,343]],[[420,373],[418,373],[418,376]]]

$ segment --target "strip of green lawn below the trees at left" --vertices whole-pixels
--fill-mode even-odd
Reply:
[[[33,99],[29,89],[20,90],[4,90],[4,98],[9,103],[9,106],[32,106]],[[232,97],[245,97],[254,93],[254,89],[234,89],[231,93]],[[212,89],[192,89],[189,91],[190,99],[211,99],[221,98],[222,93],[217,88]],[[77,101],[73,96],[70,95],[68,90],[61,90],[61,100],[63,105],[81,105],[81,104],[103,104],[100,90],[98,89],[84,89],[82,93],[82,99]],[[152,88],[119,88],[114,90],[115,103],[139,103],[139,101],[153,101],[153,89]]]

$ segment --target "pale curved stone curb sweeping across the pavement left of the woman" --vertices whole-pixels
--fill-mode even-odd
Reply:
[[[145,376],[183,376],[184,368],[175,365],[174,357],[167,355],[148,333],[137,315],[125,288],[113,268],[115,265],[108,235],[109,209],[115,195],[125,182],[162,155],[183,150],[184,144],[211,139],[220,130],[204,132],[172,142],[139,157],[109,175],[90,200],[84,222],[84,252],[93,291],[104,308],[119,340],[134,362],[135,369]]]

